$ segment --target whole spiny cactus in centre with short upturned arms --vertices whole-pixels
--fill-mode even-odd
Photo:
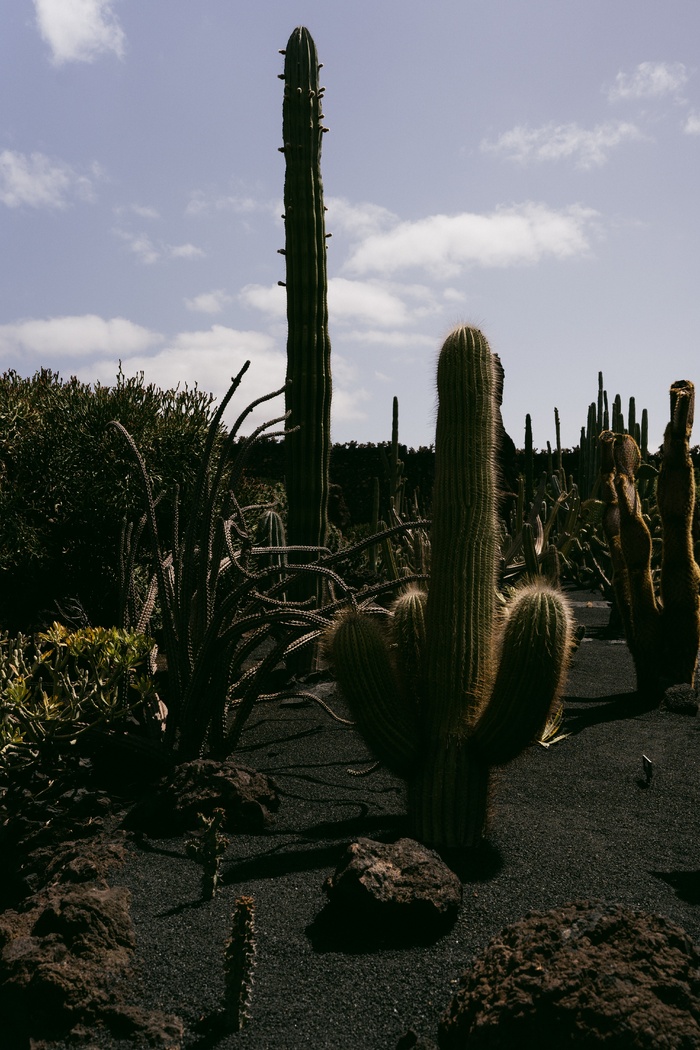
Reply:
[[[571,650],[563,595],[544,582],[496,594],[494,368],[486,339],[458,328],[438,363],[431,574],[385,630],[360,609],[328,639],[360,732],[408,784],[411,834],[437,848],[479,843],[489,771],[538,734]]]

